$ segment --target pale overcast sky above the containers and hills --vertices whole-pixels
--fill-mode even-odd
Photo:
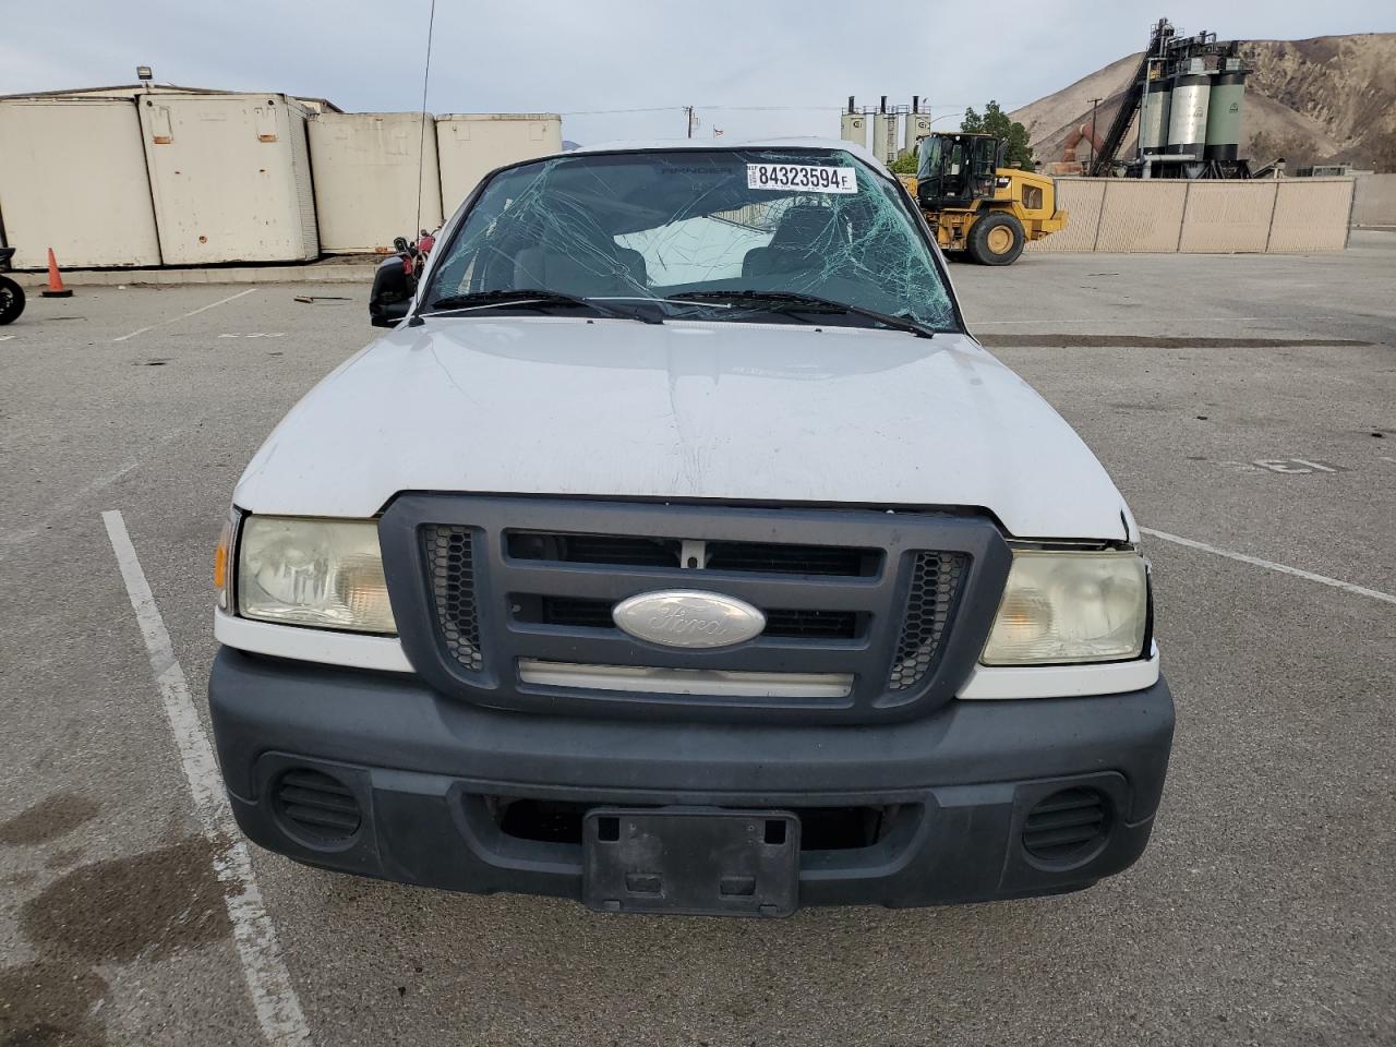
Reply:
[[[0,94],[162,82],[422,102],[430,0],[0,0]],[[938,126],[990,98],[1032,102],[1141,50],[1167,14],[1222,39],[1396,31],[1392,0],[437,0],[427,107],[554,112],[581,142],[698,134],[838,135],[847,96],[909,103]],[[1046,20],[1046,21],[1044,21]],[[660,109],[663,112],[597,112]]]

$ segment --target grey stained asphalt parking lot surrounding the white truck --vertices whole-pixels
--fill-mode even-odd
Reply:
[[[202,716],[233,483],[371,338],[366,288],[80,288],[0,328],[0,1044],[261,1043],[258,956],[297,1001],[288,1043],[1396,1043],[1396,235],[952,275],[1150,532],[1178,732],[1138,866],[723,921],[250,849],[276,948],[239,938],[172,680]]]

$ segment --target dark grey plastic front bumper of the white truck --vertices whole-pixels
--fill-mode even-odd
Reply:
[[[1160,680],[1092,698],[949,702],[878,726],[600,720],[490,711],[412,677],[222,649],[209,678],[218,758],[250,839],[310,864],[408,884],[582,896],[582,846],[524,839],[501,800],[613,807],[886,810],[868,846],[800,854],[801,905],[917,906],[1089,886],[1143,852],[1173,698]],[[359,825],[313,839],[278,805],[288,771],[331,775]],[[1100,843],[1071,861],[1023,846],[1064,789],[1099,797]]]

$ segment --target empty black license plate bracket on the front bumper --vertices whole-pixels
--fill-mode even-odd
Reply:
[[[582,821],[582,900],[606,913],[789,916],[800,819],[790,811],[597,807]]]

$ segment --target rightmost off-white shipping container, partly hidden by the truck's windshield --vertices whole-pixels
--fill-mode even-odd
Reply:
[[[557,113],[445,113],[437,117],[441,208],[461,207],[479,180],[505,163],[563,151]]]

